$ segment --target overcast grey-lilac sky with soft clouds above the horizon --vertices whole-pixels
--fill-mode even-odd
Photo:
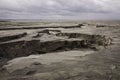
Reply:
[[[120,19],[120,0],[0,0],[0,19]]]

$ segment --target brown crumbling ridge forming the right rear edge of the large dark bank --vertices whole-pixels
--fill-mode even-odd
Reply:
[[[68,38],[79,38],[86,41],[88,44],[110,45],[112,38],[103,35],[90,35],[81,33],[58,33],[56,36],[63,36]]]

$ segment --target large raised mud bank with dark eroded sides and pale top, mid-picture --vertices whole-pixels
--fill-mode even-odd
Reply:
[[[51,32],[54,32],[51,33]],[[42,34],[42,35],[41,35]],[[47,52],[90,48],[98,50],[98,46],[108,46],[111,39],[101,35],[89,35],[81,33],[61,33],[59,30],[43,30],[31,36],[29,40],[21,39],[26,33],[3,38],[0,44],[0,57],[15,58],[31,54],[43,54]],[[67,38],[64,38],[67,37]]]

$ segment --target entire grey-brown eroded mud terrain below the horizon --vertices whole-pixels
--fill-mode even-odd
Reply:
[[[0,80],[120,80],[120,24],[0,22]]]

